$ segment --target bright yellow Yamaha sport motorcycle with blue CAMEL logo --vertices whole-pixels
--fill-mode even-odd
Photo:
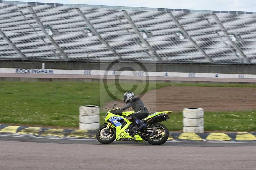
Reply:
[[[166,126],[158,122],[167,121],[171,111],[155,112],[148,117],[142,119],[146,123],[146,127],[137,132],[138,126],[128,120],[128,115],[134,111],[126,111],[121,114],[114,114],[114,107],[105,115],[105,122],[98,130],[96,137],[100,143],[109,144],[116,141],[148,141],[152,145],[164,144],[168,137],[169,131]]]

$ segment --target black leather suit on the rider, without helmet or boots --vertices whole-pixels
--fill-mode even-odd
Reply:
[[[128,116],[130,121],[135,121],[137,118],[143,119],[149,115],[147,107],[145,107],[144,103],[139,97],[132,97],[130,101],[120,110],[124,111],[130,107],[132,107],[135,111],[135,113]]]

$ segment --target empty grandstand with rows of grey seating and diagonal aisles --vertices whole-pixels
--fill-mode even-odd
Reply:
[[[255,15],[0,1],[0,59],[254,65]]]

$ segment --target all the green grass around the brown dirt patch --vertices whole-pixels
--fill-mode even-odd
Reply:
[[[122,98],[116,85],[108,84],[109,90]],[[124,89],[131,84],[121,83]],[[170,84],[150,83],[148,90],[164,86],[214,86],[256,87],[253,84]],[[135,93],[141,93],[144,84],[138,83]],[[103,84],[88,82],[0,82],[0,124],[44,125],[78,127],[78,107],[100,105],[113,100],[104,92]],[[101,113],[101,123],[105,113]],[[205,130],[255,131],[255,111],[206,112]],[[173,113],[168,122],[169,130],[182,130],[182,114]]]

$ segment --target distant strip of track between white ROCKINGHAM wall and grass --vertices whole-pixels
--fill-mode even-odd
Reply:
[[[9,78],[87,78],[103,79],[103,75],[71,75],[71,74],[19,74],[19,73],[0,73],[0,77]],[[108,76],[108,79],[115,79],[115,76]],[[123,80],[146,80],[145,76],[119,76]],[[256,83],[253,78],[196,78],[196,77],[155,77],[150,76],[150,80],[162,81],[202,81],[202,82],[237,82],[237,83]]]

